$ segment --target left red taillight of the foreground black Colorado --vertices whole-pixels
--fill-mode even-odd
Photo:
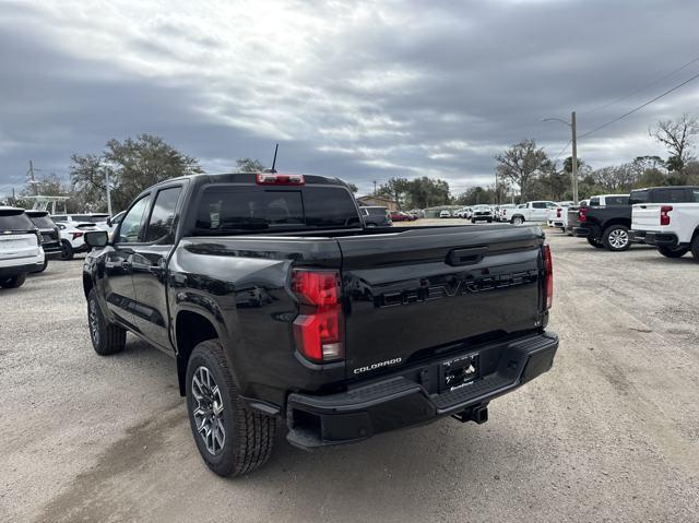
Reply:
[[[311,361],[323,364],[344,357],[340,273],[294,269],[292,289],[300,301],[294,320],[296,348]]]

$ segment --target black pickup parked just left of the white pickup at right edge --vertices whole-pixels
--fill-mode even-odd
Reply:
[[[570,215],[569,215],[570,221]],[[625,251],[631,246],[631,206],[628,194],[600,194],[577,211],[572,234],[595,248]]]

